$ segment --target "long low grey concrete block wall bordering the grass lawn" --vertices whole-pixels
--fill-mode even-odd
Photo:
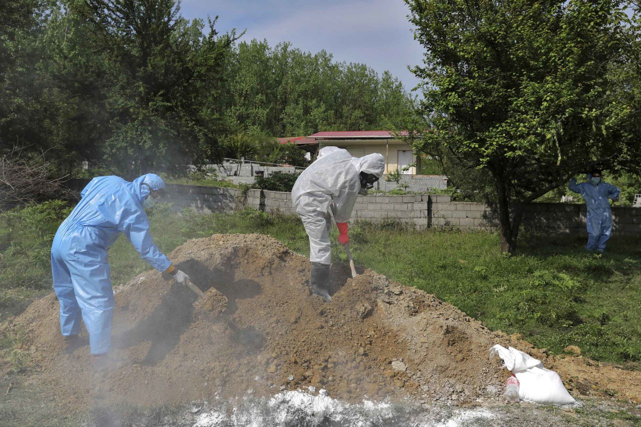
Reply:
[[[71,180],[67,186],[79,192],[89,180]],[[193,208],[199,212],[233,212],[251,207],[264,212],[296,213],[292,195],[251,189],[243,197],[236,188],[168,184],[169,201],[174,209]],[[78,197],[79,198],[79,197]],[[641,208],[612,208],[613,230],[641,235]],[[454,227],[465,230],[496,230],[497,209],[485,203],[461,203],[443,195],[358,196],[351,221],[400,221],[422,230]],[[526,207],[524,230],[549,233],[586,233],[585,205],[533,203]]]

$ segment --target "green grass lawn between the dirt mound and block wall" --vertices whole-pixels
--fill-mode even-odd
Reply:
[[[48,221],[38,219],[50,211]],[[40,205],[13,217],[0,215],[0,321],[50,289],[48,251],[65,212],[61,206]],[[297,253],[309,252],[301,222],[288,215],[245,210],[233,215],[185,211],[181,216],[160,206],[151,222],[154,241],[167,253],[213,233],[263,233]],[[615,233],[601,256],[583,249],[584,237],[523,236],[519,255],[504,256],[492,233],[360,223],[351,227],[350,237],[356,264],[435,294],[489,328],[520,333],[555,353],[573,344],[590,358],[640,368],[638,238]],[[344,260],[335,235],[332,242],[334,260]],[[110,249],[110,263],[115,286],[149,269],[123,237]]]

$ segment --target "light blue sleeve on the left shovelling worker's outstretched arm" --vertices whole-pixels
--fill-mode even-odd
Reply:
[[[169,269],[171,262],[154,244],[149,232],[149,218],[142,208],[137,209],[137,212],[131,212],[124,221],[120,222],[119,230],[127,236],[140,257],[154,269],[158,271]]]

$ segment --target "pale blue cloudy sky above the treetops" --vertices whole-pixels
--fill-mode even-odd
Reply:
[[[316,53],[322,49],[338,62],[360,62],[382,74],[388,70],[412,90],[419,81],[408,65],[422,63],[403,0],[182,0],[187,19],[219,15],[216,29],[246,30],[240,40],[267,40],[269,46]],[[414,94],[417,94],[414,92]]]

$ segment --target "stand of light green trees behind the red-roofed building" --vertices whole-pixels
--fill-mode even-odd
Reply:
[[[402,127],[412,100],[388,72],[334,62],[326,51],[303,52],[289,43],[241,42],[227,63],[226,118],[236,131],[278,137],[320,130]]]

